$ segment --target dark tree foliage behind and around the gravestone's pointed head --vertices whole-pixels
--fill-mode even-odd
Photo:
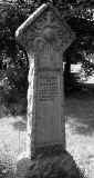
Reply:
[[[22,47],[17,44],[14,32],[30,13],[44,2],[52,2],[77,36],[66,56],[74,53],[72,58],[76,60],[80,58],[80,51],[85,50],[88,53],[93,51],[94,2],[92,0],[11,0],[11,2],[2,0],[0,3],[0,70],[3,71],[1,73],[4,73],[2,76],[8,80],[10,88],[25,90],[28,86],[25,82],[28,58]],[[83,67],[88,69],[86,65]]]

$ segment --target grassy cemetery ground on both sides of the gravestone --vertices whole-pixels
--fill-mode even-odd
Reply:
[[[0,178],[14,178],[17,156],[25,149],[25,99],[0,109]],[[65,97],[66,150],[73,156],[84,177],[94,177],[94,89],[73,91]],[[3,115],[6,112],[6,115]]]

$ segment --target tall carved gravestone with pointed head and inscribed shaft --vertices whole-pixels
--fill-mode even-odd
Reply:
[[[17,168],[17,177],[24,178],[33,159],[65,150],[62,60],[75,36],[52,4],[42,4],[15,37],[29,57],[27,152]]]

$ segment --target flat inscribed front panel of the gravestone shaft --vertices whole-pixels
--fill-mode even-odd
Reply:
[[[36,146],[64,144],[63,80],[61,71],[41,71],[36,86]]]

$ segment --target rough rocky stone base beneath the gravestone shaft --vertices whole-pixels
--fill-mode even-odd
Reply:
[[[82,178],[72,156],[66,151],[55,156],[38,155],[30,160],[27,156],[17,165],[15,178]]]

